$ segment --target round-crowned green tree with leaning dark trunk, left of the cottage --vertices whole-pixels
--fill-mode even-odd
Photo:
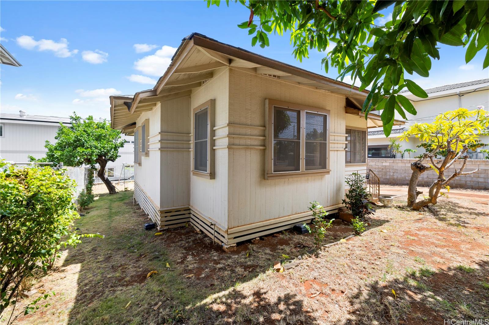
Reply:
[[[71,126],[60,123],[54,144],[46,141],[47,161],[64,163],[67,166],[79,167],[83,164],[95,168],[99,165],[97,176],[105,183],[110,194],[117,193],[115,186],[105,176],[105,166],[115,161],[119,149],[124,146],[121,132],[111,128],[107,121],[94,121],[92,116],[83,120],[73,113],[70,116]]]

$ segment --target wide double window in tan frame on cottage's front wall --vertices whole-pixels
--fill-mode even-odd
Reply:
[[[265,178],[329,173],[329,110],[267,100]]]

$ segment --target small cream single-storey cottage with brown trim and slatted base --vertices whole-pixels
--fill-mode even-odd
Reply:
[[[381,125],[367,94],[194,33],[153,89],[111,96],[111,122],[134,134],[134,197],[158,228],[233,245],[342,206]]]

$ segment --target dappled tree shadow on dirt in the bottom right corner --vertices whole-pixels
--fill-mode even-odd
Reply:
[[[403,279],[375,282],[349,297],[352,324],[444,324],[444,319],[473,320],[489,315],[489,262],[476,268],[437,272],[407,269]],[[395,292],[395,295],[393,291]],[[341,323],[344,324],[344,323]]]

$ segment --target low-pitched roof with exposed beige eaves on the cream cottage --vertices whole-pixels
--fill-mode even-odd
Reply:
[[[112,127],[125,133],[132,132],[133,127],[130,126],[142,112],[152,110],[157,102],[168,97],[191,93],[192,89],[202,85],[202,81],[211,79],[215,69],[225,66],[252,69],[257,74],[282,81],[345,95],[359,106],[368,94],[368,91],[360,91],[348,83],[192,33],[182,40],[155,87],[134,96],[110,97]]]

